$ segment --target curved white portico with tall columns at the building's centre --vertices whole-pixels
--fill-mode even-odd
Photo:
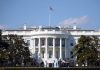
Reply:
[[[31,36],[30,49],[32,54],[37,54],[38,57],[47,63],[57,63],[58,59],[66,57],[66,40],[68,34],[62,31],[38,31]]]

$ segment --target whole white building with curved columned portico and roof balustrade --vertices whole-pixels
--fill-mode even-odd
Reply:
[[[100,38],[100,31],[82,30],[68,27],[33,27],[16,30],[3,30],[2,35],[22,35],[29,45],[32,57],[37,57],[44,63],[45,67],[58,67],[59,60],[74,60],[72,48],[78,43],[81,35],[97,36]]]

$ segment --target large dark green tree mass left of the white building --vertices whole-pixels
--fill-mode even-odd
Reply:
[[[0,66],[26,66],[30,52],[22,36],[5,35],[0,41]]]

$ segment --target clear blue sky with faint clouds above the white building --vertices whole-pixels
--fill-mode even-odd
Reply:
[[[49,14],[51,26],[100,29],[100,0],[0,0],[0,28],[48,26]]]

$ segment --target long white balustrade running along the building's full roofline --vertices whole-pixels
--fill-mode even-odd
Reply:
[[[17,35],[35,35],[35,34],[68,34],[66,31],[56,31],[56,30],[37,30],[37,31],[4,31],[3,35],[7,34],[17,34]],[[71,35],[100,35],[100,31],[73,31],[70,32]]]

